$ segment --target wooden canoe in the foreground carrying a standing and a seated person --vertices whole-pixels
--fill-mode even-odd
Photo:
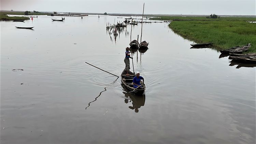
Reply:
[[[128,70],[128,73],[130,75],[126,75],[126,69],[124,69],[124,71],[121,74],[121,81],[122,84],[129,90],[129,91],[133,91],[135,88],[133,87],[132,81],[133,78],[136,76],[135,74],[133,74],[130,70]],[[143,83],[142,81],[140,81],[141,84]],[[136,89],[134,93],[136,94],[143,94],[143,92],[145,91],[146,86],[142,85],[142,89]]]

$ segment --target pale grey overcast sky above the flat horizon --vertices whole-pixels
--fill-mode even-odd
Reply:
[[[81,13],[256,15],[255,0],[1,0],[1,10]]]

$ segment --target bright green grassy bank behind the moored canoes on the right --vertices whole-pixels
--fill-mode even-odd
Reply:
[[[251,43],[252,46],[246,53],[256,52],[256,23],[243,20],[172,21],[169,27],[196,43],[216,42],[214,47],[217,50]]]

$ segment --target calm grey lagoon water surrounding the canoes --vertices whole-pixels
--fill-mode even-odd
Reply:
[[[144,23],[149,49],[132,56],[146,91],[136,96],[85,62],[119,76],[141,23],[114,37],[106,23],[124,17],[51,18],[61,17],[1,21],[1,144],[255,143],[256,65]]]

